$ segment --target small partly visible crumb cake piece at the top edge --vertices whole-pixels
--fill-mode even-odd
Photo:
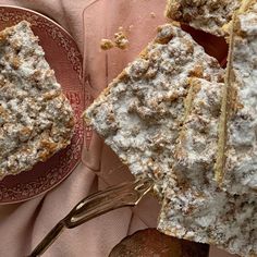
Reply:
[[[166,15],[217,36],[224,36],[222,28],[232,20],[242,0],[168,0]]]

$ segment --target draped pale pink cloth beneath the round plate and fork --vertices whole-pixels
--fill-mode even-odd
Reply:
[[[73,35],[81,50],[82,13],[88,2],[89,0],[0,0],[0,4],[33,9],[56,20]],[[20,257],[29,254],[79,199],[106,187],[107,184],[132,180],[127,169],[96,134],[91,140],[90,152],[85,150],[84,155],[86,162],[81,163],[53,191],[23,204],[0,206],[0,256]],[[65,231],[44,256],[108,256],[111,248],[127,234],[155,227],[158,208],[156,200],[146,198],[134,209],[111,211],[76,229]],[[229,257],[223,252],[211,252],[215,257]]]

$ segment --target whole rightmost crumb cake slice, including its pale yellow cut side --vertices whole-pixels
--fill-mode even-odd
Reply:
[[[234,194],[257,193],[257,2],[235,16],[220,120],[216,179]],[[227,102],[227,105],[225,105]],[[229,102],[229,105],[228,105]],[[220,150],[221,150],[220,149]]]

